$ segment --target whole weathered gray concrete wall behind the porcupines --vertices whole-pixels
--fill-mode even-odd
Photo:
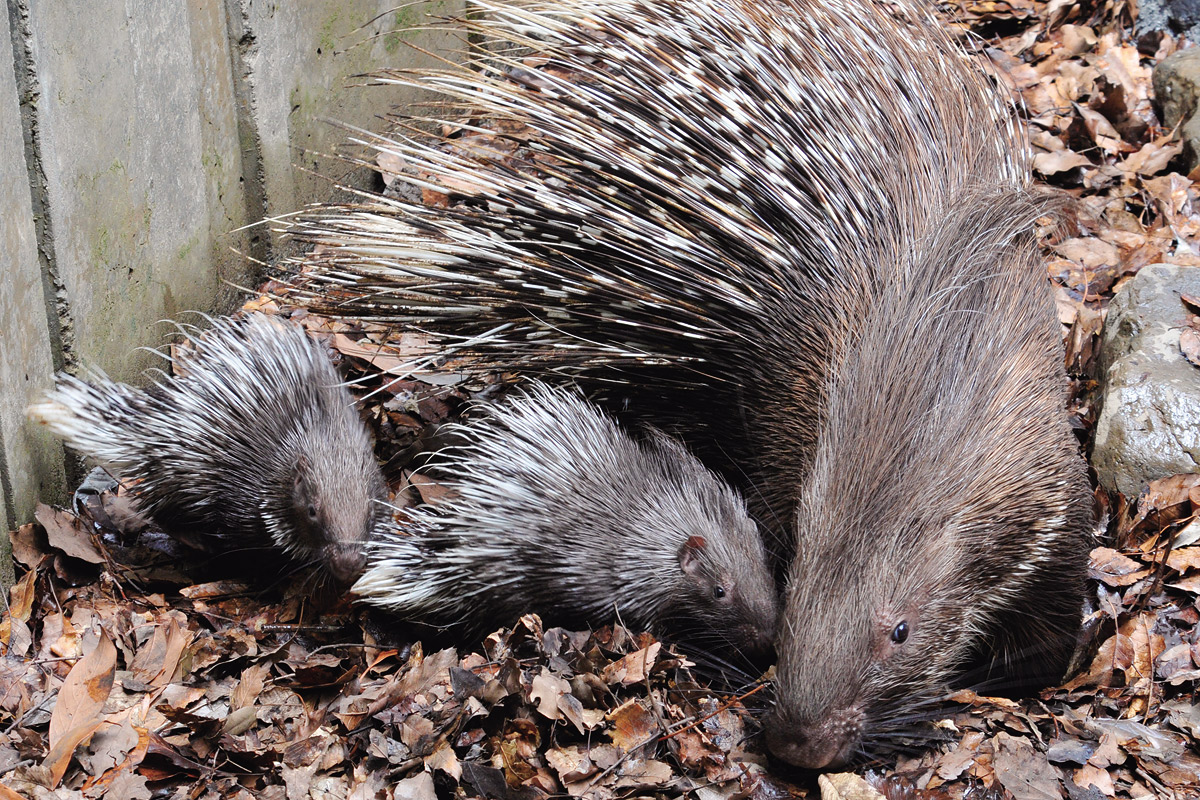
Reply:
[[[73,459],[23,415],[53,373],[90,366],[137,381],[155,363],[138,348],[161,343],[158,320],[230,309],[230,284],[258,278],[245,255],[277,255],[269,228],[251,223],[331,198],[331,179],[371,180],[316,155],[347,136],[330,120],[379,130],[380,114],[414,100],[355,76],[434,64],[421,49],[455,58],[449,31],[415,29],[462,4],[8,0],[0,525],[65,499]]]

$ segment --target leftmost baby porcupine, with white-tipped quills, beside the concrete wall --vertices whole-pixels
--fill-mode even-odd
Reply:
[[[29,415],[133,481],[168,533],[277,547],[342,582],[385,521],[386,486],[354,399],[304,329],[263,314],[190,338],[145,390],[62,374]]]

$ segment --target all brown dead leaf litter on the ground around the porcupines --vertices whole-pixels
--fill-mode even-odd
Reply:
[[[1067,235],[1048,227],[1045,253],[1086,435],[1112,293],[1146,264],[1200,265],[1195,175],[1178,172],[1150,82],[1178,42],[1135,38],[1124,0],[940,12],[1013,90],[1036,178],[1072,217]],[[281,288],[247,306],[293,314],[340,354],[396,504],[437,501],[445,488],[409,469],[413,455],[503,381],[468,380],[419,333],[281,308]],[[1196,331],[1192,317],[1180,342],[1193,361]],[[648,634],[545,630],[530,614],[457,642],[302,579],[197,569],[203,554],[146,530],[124,488],[79,516],[43,506],[10,534],[20,579],[0,621],[0,800],[1200,796],[1200,475],[1097,501],[1094,604],[1063,686],[1025,700],[960,691],[932,746],[817,780],[766,758],[761,684],[732,691]]]

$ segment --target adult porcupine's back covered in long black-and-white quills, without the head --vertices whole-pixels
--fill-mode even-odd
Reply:
[[[914,12],[896,22],[906,6],[485,6],[473,29],[554,70],[382,79],[522,124],[528,146],[373,140],[468,201],[372,197],[292,227],[324,247],[314,305],[419,325],[488,368],[617,381],[689,444],[714,437],[787,528],[829,354],[895,254],[965,187],[1024,180],[1003,103]],[[703,397],[655,402],[677,386]]]

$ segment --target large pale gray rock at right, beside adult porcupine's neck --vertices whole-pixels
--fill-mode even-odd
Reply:
[[[1092,465],[1103,486],[1129,497],[1200,464],[1200,368],[1180,351],[1189,317],[1181,294],[1200,296],[1200,269],[1145,266],[1104,323]]]

